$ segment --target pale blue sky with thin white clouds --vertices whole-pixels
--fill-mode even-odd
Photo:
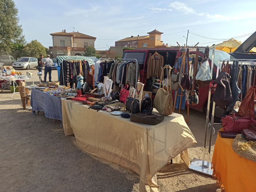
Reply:
[[[96,37],[95,48],[106,50],[115,41],[131,35],[147,35],[155,28],[169,45],[199,42],[201,46],[218,44],[256,30],[256,1],[181,0],[14,0],[27,42],[33,39],[52,46],[49,33],[66,29]],[[175,33],[175,34],[173,34]],[[171,34],[171,35],[170,35]],[[236,38],[246,40],[248,36]],[[209,39],[210,38],[210,39]],[[213,42],[217,41],[217,42]],[[208,43],[213,42],[213,43]],[[204,44],[202,44],[204,43]],[[106,45],[107,44],[107,45]]]

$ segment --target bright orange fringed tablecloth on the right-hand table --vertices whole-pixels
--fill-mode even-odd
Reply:
[[[233,140],[218,134],[212,159],[213,178],[226,192],[256,191],[256,162],[236,154],[232,149]]]

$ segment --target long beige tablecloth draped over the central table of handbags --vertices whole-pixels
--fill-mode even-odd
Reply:
[[[65,135],[74,134],[86,152],[137,172],[141,192],[158,191],[156,172],[171,159],[178,163],[182,159],[189,166],[187,148],[196,140],[180,114],[147,125],[71,100],[61,104]]]

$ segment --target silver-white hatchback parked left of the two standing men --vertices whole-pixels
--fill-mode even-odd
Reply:
[[[37,58],[34,57],[20,57],[12,64],[14,69],[31,69],[37,66]]]

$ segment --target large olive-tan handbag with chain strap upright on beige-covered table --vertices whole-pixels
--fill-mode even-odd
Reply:
[[[169,70],[167,77],[167,91],[161,88],[163,85],[163,70],[166,68],[171,68],[171,66],[166,65],[162,69],[160,86],[155,95],[153,106],[161,115],[171,115],[173,110],[172,95],[171,95],[171,69]]]

